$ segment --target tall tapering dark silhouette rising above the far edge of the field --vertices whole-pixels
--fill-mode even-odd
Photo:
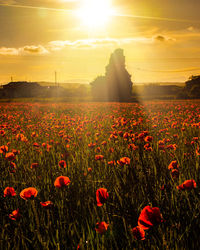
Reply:
[[[116,49],[110,56],[105,76],[98,76],[92,83],[92,94],[96,99],[128,101],[132,95],[131,75],[125,67],[122,49]]]

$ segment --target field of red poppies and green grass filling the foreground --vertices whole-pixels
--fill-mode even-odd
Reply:
[[[200,247],[200,102],[0,109],[0,249]]]

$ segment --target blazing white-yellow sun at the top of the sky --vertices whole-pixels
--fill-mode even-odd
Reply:
[[[108,24],[115,11],[110,0],[83,0],[76,13],[84,26],[99,28]]]

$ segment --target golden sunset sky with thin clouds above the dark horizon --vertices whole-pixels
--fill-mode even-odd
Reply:
[[[124,50],[135,83],[200,74],[199,0],[0,0],[0,83],[89,83]]]

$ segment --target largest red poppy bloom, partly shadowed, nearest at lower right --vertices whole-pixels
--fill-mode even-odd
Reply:
[[[161,222],[163,218],[158,207],[144,207],[138,218],[138,225],[144,230]]]

